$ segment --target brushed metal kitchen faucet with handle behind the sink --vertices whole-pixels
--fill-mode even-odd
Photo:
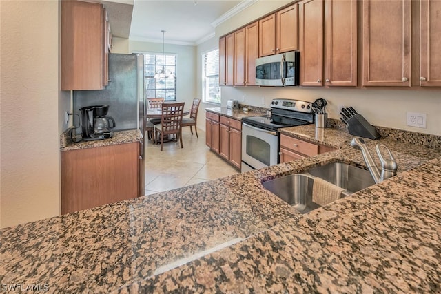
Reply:
[[[372,175],[373,180],[375,180],[376,184],[379,182],[382,182],[383,180],[386,180],[387,178],[391,178],[397,174],[397,162],[395,161],[395,158],[393,158],[391,151],[383,144],[377,144],[376,150],[378,154],[378,158],[380,158],[381,162],[381,173],[378,170],[378,167],[376,166],[375,162],[373,161],[373,158],[371,154],[369,153],[369,150],[367,149],[365,140],[363,140],[360,137],[353,138],[351,140],[351,146],[355,149],[360,149],[363,158],[365,159],[367,169]],[[380,152],[380,147],[386,148],[387,152],[389,153],[390,159],[384,159]]]

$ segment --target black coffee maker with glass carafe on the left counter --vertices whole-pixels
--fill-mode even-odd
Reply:
[[[113,136],[110,130],[116,124],[111,116],[106,116],[109,105],[81,107],[80,111],[83,140],[103,140]]]

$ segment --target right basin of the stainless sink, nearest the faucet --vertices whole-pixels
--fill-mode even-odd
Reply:
[[[369,171],[342,162],[314,167],[307,173],[345,189],[346,196],[375,184]]]

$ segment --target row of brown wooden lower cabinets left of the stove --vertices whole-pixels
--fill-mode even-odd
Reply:
[[[240,120],[207,112],[205,119],[206,145],[240,169],[242,160],[242,123]]]

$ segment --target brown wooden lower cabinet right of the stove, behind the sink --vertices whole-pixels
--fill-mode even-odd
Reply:
[[[280,163],[306,158],[333,150],[335,150],[335,148],[325,145],[317,145],[283,134],[280,135]]]

